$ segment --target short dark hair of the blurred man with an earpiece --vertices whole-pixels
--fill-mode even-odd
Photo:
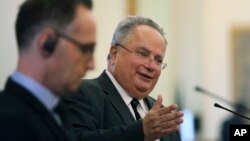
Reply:
[[[26,0],[20,6],[15,25],[19,49],[46,27],[63,29],[70,24],[79,4],[92,9],[91,0]]]

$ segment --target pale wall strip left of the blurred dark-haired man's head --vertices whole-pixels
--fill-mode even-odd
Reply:
[[[0,89],[4,87],[5,80],[16,67],[17,47],[14,23],[21,2],[22,0],[0,1]]]

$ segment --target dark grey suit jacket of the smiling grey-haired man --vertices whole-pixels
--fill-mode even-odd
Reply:
[[[144,141],[142,121],[135,121],[106,73],[84,80],[80,91],[68,96],[64,104],[70,107],[69,121],[79,141]],[[145,98],[149,108],[154,101]],[[178,140],[175,133],[161,139]]]

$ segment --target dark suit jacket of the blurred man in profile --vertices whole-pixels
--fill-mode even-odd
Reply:
[[[0,141],[67,141],[51,113],[25,88],[8,80],[0,93]]]

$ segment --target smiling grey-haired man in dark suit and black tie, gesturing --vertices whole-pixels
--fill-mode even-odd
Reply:
[[[128,17],[113,36],[108,69],[84,80],[68,95],[70,125],[79,141],[178,141],[183,113],[176,104],[162,107],[154,88],[165,64],[167,41],[151,19]]]

